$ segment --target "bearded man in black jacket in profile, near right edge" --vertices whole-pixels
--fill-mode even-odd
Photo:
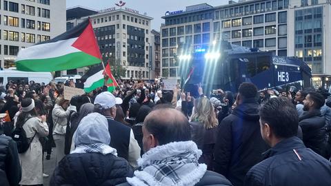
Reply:
[[[325,147],[326,123],[321,116],[321,107],[325,99],[317,92],[310,92],[303,101],[303,111],[299,117],[299,125],[302,130],[303,143],[317,154],[322,154]]]

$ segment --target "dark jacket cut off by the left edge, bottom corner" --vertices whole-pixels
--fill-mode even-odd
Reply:
[[[17,144],[9,136],[0,135],[0,185],[19,185],[20,180]]]

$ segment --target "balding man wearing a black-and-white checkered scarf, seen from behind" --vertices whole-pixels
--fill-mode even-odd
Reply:
[[[172,108],[154,110],[143,123],[141,169],[123,185],[231,185],[221,174],[199,164],[202,152],[190,140],[190,124]]]

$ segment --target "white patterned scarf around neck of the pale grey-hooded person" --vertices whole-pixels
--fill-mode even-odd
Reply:
[[[94,143],[90,145],[79,145],[70,154],[74,153],[100,153],[103,155],[113,154],[117,156],[117,150],[103,143]]]

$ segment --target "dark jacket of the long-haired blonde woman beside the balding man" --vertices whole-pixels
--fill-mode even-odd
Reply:
[[[208,170],[213,170],[214,160],[214,146],[217,140],[218,128],[206,130],[202,123],[197,121],[190,122],[191,139],[197,144],[198,148],[202,150],[202,156],[199,159],[199,163],[205,163]]]

